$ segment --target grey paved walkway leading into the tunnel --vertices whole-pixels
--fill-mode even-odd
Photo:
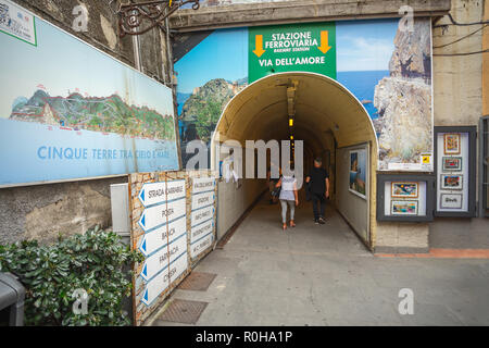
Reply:
[[[489,325],[489,260],[377,258],[331,209],[315,225],[301,204],[284,233],[262,200],[196,268],[217,274],[209,289],[172,298],[209,302],[197,325]],[[413,315],[398,311],[401,288]]]

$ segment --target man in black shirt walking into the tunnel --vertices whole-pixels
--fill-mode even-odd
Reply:
[[[314,167],[305,177],[305,183],[309,185],[311,200],[313,201],[314,222],[316,224],[324,224],[324,213],[326,210],[326,199],[329,197],[329,175],[323,169],[323,161],[321,158],[314,160]]]

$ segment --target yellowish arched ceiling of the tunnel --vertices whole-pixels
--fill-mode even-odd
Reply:
[[[314,151],[327,148],[328,134],[339,147],[373,141],[375,132],[360,101],[337,82],[311,73],[281,73],[262,78],[226,105],[217,124],[225,139],[287,139],[287,87],[296,84],[296,139],[309,142]]]

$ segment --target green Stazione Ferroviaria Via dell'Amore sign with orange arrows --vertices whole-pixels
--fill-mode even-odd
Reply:
[[[334,22],[250,27],[248,80],[283,72],[312,72],[336,79]]]

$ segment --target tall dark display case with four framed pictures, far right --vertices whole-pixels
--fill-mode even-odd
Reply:
[[[476,216],[475,126],[435,127],[436,216]]]

